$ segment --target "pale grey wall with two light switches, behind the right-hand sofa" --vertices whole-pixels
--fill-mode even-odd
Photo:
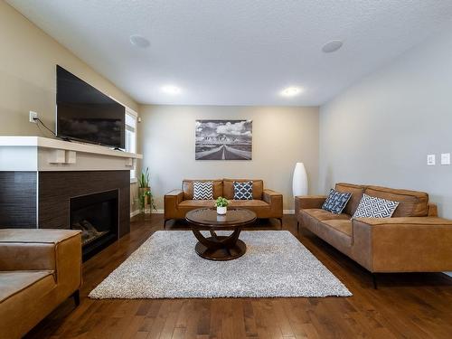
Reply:
[[[339,181],[425,191],[452,218],[452,30],[320,108],[320,189]],[[437,165],[427,165],[427,155]]]

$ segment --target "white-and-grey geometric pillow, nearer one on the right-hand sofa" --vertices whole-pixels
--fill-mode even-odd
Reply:
[[[392,214],[399,206],[399,202],[381,199],[367,194],[363,195],[363,199],[358,205],[356,212],[353,213],[354,218],[391,218]]]

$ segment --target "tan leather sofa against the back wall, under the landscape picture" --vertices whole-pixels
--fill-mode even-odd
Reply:
[[[184,180],[182,190],[174,190],[165,194],[165,225],[171,219],[184,219],[186,212],[202,207],[213,207],[213,200],[193,200],[193,182],[213,183],[213,198],[222,196],[230,201],[229,207],[245,208],[256,212],[258,218],[276,218],[282,224],[283,197],[282,194],[264,189],[262,180],[252,180],[253,199],[233,200],[234,181],[246,182],[248,179],[218,179],[218,180]]]

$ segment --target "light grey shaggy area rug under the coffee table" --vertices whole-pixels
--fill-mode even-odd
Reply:
[[[242,231],[240,239],[242,257],[212,261],[196,254],[191,231],[157,231],[89,297],[352,296],[289,231]]]

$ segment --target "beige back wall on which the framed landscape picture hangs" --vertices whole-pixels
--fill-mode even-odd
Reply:
[[[311,193],[318,173],[318,108],[142,106],[138,136],[149,166],[157,208],[163,195],[180,188],[184,178],[263,179],[284,194],[284,208],[293,209],[292,172],[306,164]],[[251,161],[195,161],[196,119],[253,120]]]

